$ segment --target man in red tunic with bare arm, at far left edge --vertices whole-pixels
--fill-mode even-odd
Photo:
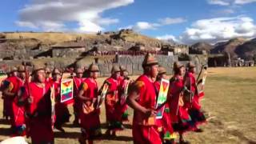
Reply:
[[[23,70],[22,66],[19,67],[19,73],[22,73]],[[4,82],[5,88],[3,90],[3,94],[6,98],[8,98],[11,101],[11,106],[9,107],[11,110],[11,128],[13,130],[13,135],[25,135],[26,125],[25,125],[25,117],[24,117],[24,107],[22,106],[22,103],[19,102],[19,99],[21,97],[20,90],[22,89],[22,86],[24,85],[24,82],[22,82],[21,78],[18,78],[17,68],[12,68],[12,76],[7,78]]]

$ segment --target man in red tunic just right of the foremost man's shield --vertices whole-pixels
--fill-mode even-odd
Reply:
[[[183,134],[193,126],[187,107],[184,105],[183,94],[187,90],[184,86],[185,67],[174,62],[174,76],[170,78],[169,106],[170,120],[175,132],[179,134],[179,143],[189,143],[183,138]]]

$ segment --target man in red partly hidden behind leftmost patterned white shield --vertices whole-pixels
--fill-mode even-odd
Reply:
[[[52,86],[54,86],[54,94],[55,94],[55,101],[56,101],[55,103],[56,120],[55,120],[54,126],[57,130],[65,132],[65,130],[62,128],[62,125],[65,122],[70,122],[70,112],[67,108],[66,103],[61,102],[62,74],[57,68],[54,68],[52,74],[53,74]]]

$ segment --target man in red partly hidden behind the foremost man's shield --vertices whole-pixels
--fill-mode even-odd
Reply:
[[[161,81],[162,79],[167,79],[166,76],[166,69],[162,66],[159,66],[159,71],[158,71],[158,77],[156,81],[154,82],[154,86],[156,87],[158,93],[160,90],[161,86]],[[170,106],[169,103],[165,104],[165,110],[162,115],[162,119],[158,119],[158,130],[162,136],[162,141],[163,143],[170,144],[174,143],[174,130],[170,121]]]

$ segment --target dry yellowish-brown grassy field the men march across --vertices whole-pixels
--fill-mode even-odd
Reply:
[[[256,67],[210,68],[208,71],[206,96],[202,99],[208,122],[202,126],[203,133],[189,132],[185,135],[186,140],[191,143],[256,143]],[[103,78],[98,79],[100,84],[102,81]],[[105,110],[102,110],[101,121],[104,133]],[[117,138],[103,138],[96,143],[132,143],[130,123],[126,125],[126,130],[117,133]],[[1,121],[0,140],[8,138],[8,127]],[[56,131],[55,143],[78,143],[79,128],[72,127],[71,123],[64,128],[66,134]]]

